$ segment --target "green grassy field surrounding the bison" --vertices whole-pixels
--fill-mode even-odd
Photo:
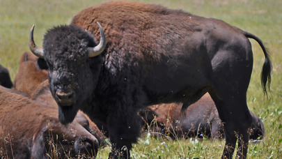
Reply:
[[[29,31],[36,24],[36,44],[42,46],[47,29],[69,24],[73,15],[87,6],[106,1],[90,0],[1,0],[0,1],[0,63],[10,70],[12,79],[19,66],[19,57],[29,51]],[[141,1],[167,8],[181,9],[203,17],[214,17],[244,31],[255,34],[264,41],[272,57],[272,94],[267,100],[260,86],[260,72],[264,62],[263,51],[256,41],[253,46],[253,74],[247,93],[249,109],[260,116],[265,124],[265,139],[250,144],[248,158],[282,158],[282,1],[276,0],[171,0]],[[164,143],[165,142],[165,143]],[[210,142],[204,139],[175,140],[169,142],[141,137],[134,144],[134,158],[219,158],[224,141]],[[97,158],[107,158],[109,149],[99,151]]]

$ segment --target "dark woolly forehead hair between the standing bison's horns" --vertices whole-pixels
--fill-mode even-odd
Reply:
[[[75,25],[49,29],[44,36],[45,59],[75,61],[78,65],[88,58],[87,47],[95,47],[94,36]]]

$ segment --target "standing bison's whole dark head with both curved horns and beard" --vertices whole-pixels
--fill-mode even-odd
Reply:
[[[33,41],[33,29],[29,35],[29,47],[33,54],[44,59],[48,66],[49,86],[58,103],[58,117],[61,123],[75,119],[78,109],[95,89],[102,66],[101,54],[106,38],[100,28],[100,43],[81,27],[63,25],[47,31],[43,50]]]

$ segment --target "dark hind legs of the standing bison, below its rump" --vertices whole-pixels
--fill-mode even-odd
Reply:
[[[222,158],[232,158],[237,140],[237,158],[246,158],[249,144],[248,130],[252,122],[252,116],[246,105],[246,96],[234,93],[232,96],[224,96],[224,100],[221,100],[214,93],[210,95],[224,123],[226,145]]]

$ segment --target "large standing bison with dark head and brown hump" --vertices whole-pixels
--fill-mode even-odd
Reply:
[[[105,32],[100,25],[98,31],[96,22]],[[94,37],[100,36],[97,45]],[[130,156],[141,130],[140,109],[183,103],[184,111],[207,92],[226,123],[222,158],[232,158],[238,135],[237,156],[246,158],[252,121],[246,90],[253,68],[248,38],[265,54],[266,92],[271,62],[258,37],[221,20],[162,6],[130,1],[91,6],[75,15],[69,26],[49,29],[44,49],[35,45],[32,28],[29,46],[47,62],[50,90],[63,124],[71,123],[79,109],[107,123],[114,143],[109,158],[118,157],[116,150]]]

